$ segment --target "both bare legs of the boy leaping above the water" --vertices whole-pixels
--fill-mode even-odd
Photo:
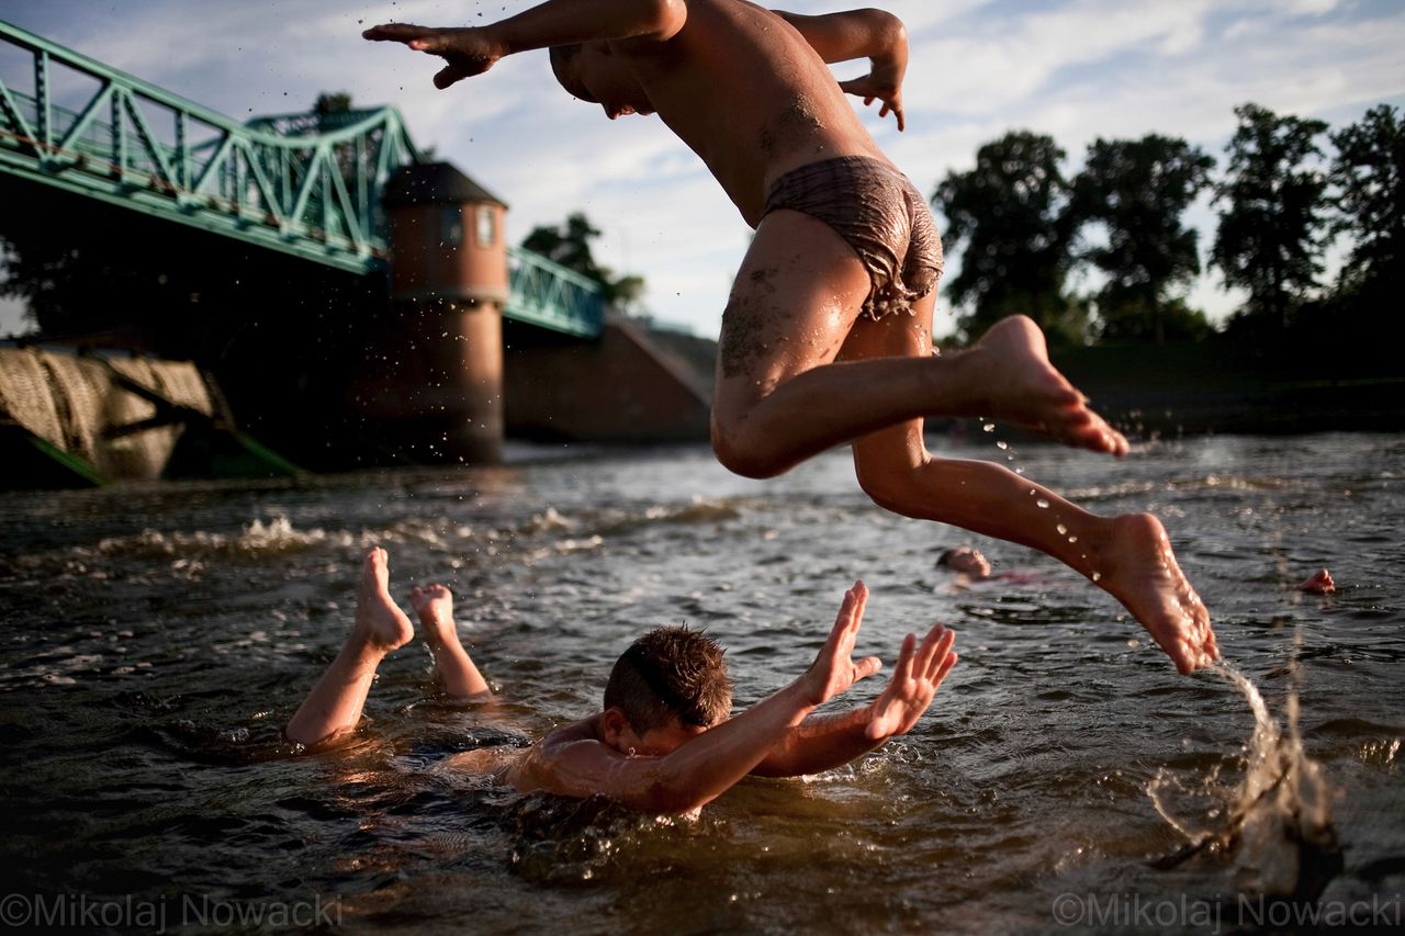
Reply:
[[[867,271],[829,226],[794,211],[762,221],[722,319],[718,458],[764,476],[853,441],[858,481],[880,505],[1066,562],[1123,602],[1182,672],[1217,655],[1208,613],[1155,517],[1099,517],[992,462],[927,454],[922,416],[932,413],[1009,419],[1127,451],[1050,364],[1038,327],[1006,319],[974,349],[933,357],[934,297],[912,316],[871,322],[858,319],[867,292]]]

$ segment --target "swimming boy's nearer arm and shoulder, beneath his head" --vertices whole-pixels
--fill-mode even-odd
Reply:
[[[521,790],[562,795],[604,794],[648,812],[686,812],[715,800],[745,777],[822,703],[878,672],[868,656],[851,659],[861,617],[853,613],[863,583],[844,596],[829,638],[805,673],[736,718],[710,728],[662,758],[628,758],[600,742],[589,722],[534,748],[509,773]]]

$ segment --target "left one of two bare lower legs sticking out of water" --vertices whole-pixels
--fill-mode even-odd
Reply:
[[[361,566],[351,634],[284,729],[288,741],[315,745],[361,721],[377,666],[414,634],[410,618],[391,600],[389,580],[385,550],[377,547]]]

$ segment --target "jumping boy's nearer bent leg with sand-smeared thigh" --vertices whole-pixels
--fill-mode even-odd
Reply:
[[[833,363],[868,273],[828,225],[762,221],[722,316],[712,444],[724,465],[769,476],[832,446],[926,415],[989,416],[1124,454],[1127,440],[1048,361],[1033,322],[1007,319],[968,351]]]

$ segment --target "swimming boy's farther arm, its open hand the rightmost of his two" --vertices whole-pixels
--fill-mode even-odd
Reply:
[[[858,613],[863,613],[861,606]],[[892,679],[878,698],[844,713],[811,715],[792,728],[752,773],[795,777],[832,770],[881,748],[895,735],[908,734],[955,665],[954,641],[955,634],[940,624],[927,632],[920,648],[909,634],[902,642]]]

